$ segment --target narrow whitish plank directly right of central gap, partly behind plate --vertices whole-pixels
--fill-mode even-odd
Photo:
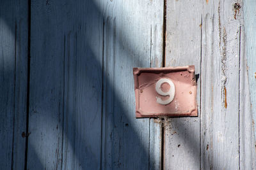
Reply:
[[[200,74],[201,22],[202,1],[166,1],[165,66],[195,65]],[[197,87],[200,113],[200,81]],[[198,115],[165,120],[164,169],[200,168]]]

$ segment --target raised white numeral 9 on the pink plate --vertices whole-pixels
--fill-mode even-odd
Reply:
[[[163,83],[168,83],[170,85],[170,90],[168,92],[163,92],[163,90],[161,89],[161,85]],[[163,105],[171,103],[173,101],[174,94],[175,94],[175,87],[172,80],[168,78],[161,78],[160,80],[158,80],[156,82],[156,92],[161,96],[169,96],[169,98],[164,101],[161,99],[161,97],[156,97],[157,103],[163,104]]]

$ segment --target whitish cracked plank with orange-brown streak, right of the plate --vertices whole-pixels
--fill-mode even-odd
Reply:
[[[202,24],[202,169],[255,169],[241,1],[207,1]]]

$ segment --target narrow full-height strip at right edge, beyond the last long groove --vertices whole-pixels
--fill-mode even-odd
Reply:
[[[240,4],[240,12],[244,18],[244,27],[241,27],[240,43],[240,169],[256,169],[256,131],[254,124],[256,118],[256,79],[254,75],[256,72],[254,31],[256,29],[256,2],[244,0]]]

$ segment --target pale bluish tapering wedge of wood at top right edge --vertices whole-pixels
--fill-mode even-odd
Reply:
[[[245,55],[252,102],[253,120],[256,122],[256,1],[244,0]],[[255,123],[254,123],[255,124]],[[256,137],[256,128],[254,131]]]

